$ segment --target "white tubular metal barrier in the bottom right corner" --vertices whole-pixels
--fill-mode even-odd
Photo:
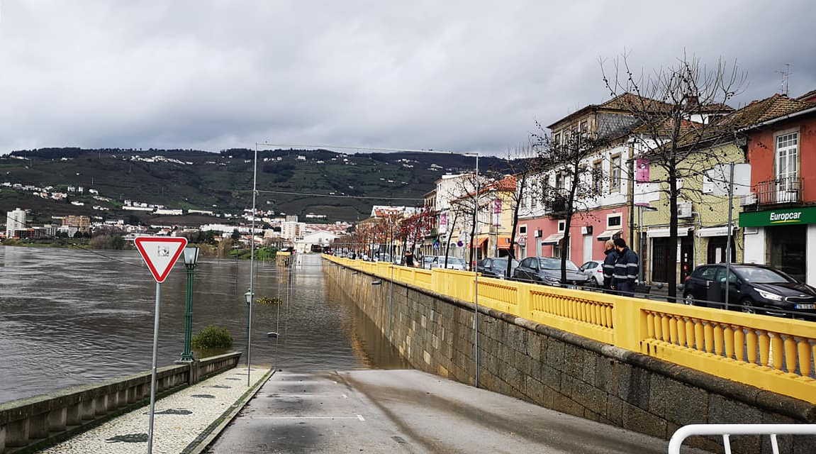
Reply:
[[[816,424],[692,424],[678,429],[668,442],[668,454],[680,454],[685,438],[720,435],[725,454],[731,454],[731,435],[770,435],[770,446],[779,454],[777,435],[816,435]]]

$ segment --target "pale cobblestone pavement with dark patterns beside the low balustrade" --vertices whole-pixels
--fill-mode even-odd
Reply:
[[[257,384],[268,371],[265,367],[252,367],[252,385]],[[158,400],[153,452],[182,452],[249,389],[244,366],[222,372]],[[149,406],[140,407],[42,452],[144,454],[147,451],[148,416]]]

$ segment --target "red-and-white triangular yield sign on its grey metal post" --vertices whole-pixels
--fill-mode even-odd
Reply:
[[[153,367],[150,369],[150,412],[148,454],[153,453],[153,414],[156,411],[156,358],[158,354],[158,319],[162,306],[162,283],[187,246],[184,237],[139,237],[134,240],[144,264],[156,281],[156,308],[153,317]]]

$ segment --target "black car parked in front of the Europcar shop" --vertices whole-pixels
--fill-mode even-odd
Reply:
[[[727,287],[729,309],[749,314],[816,319],[816,288],[800,283],[778,269],[735,264],[731,265],[728,281],[726,285],[725,265],[699,266],[685,279],[683,300],[687,305],[723,307]]]

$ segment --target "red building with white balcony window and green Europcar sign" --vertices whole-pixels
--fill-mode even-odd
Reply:
[[[746,131],[753,192],[739,225],[746,262],[816,286],[816,104],[803,98],[755,103],[761,112]]]

